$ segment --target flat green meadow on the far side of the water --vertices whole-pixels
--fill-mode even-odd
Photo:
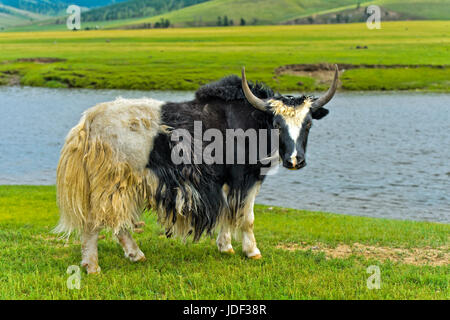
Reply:
[[[250,79],[276,90],[311,91],[328,83],[277,68],[327,62],[379,66],[344,72],[344,90],[449,92],[449,27],[410,21],[381,30],[346,24],[0,33],[0,84],[195,90],[246,65]],[[41,57],[57,59],[34,59]]]

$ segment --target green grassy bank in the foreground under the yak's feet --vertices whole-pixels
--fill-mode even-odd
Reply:
[[[67,267],[79,263],[76,238],[50,233],[54,187],[0,187],[0,299],[445,299],[450,226],[257,206],[263,259],[217,252],[214,241],[165,239],[153,215],[136,239],[147,261],[132,264],[111,235],[99,243],[99,276],[83,273],[68,290]],[[353,248],[345,253],[345,248]],[[431,254],[436,253],[436,254]],[[425,257],[425,258],[422,258]],[[366,286],[380,267],[381,289]]]

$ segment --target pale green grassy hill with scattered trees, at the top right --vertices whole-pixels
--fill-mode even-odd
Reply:
[[[351,11],[357,8],[363,13],[363,9],[371,4],[379,5],[383,12],[389,12],[384,16],[384,20],[450,19],[450,0],[211,0],[159,16],[136,20],[133,23],[154,23],[163,18],[169,19],[172,25],[179,27],[215,26],[223,25],[226,16],[227,23],[230,24],[232,21],[234,25],[286,24],[296,21],[304,23],[305,21],[301,19],[308,17],[315,19],[323,15],[330,17],[319,20],[320,23],[345,23],[359,21],[361,18],[358,16],[339,20],[336,14],[339,12],[351,14]]]

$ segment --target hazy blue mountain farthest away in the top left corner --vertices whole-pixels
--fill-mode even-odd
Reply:
[[[125,0],[0,0],[0,4],[42,15],[56,16],[64,14],[71,4],[83,8],[96,8],[123,1]]]

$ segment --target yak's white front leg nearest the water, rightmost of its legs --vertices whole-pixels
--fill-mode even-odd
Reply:
[[[253,234],[253,222],[255,221],[255,215],[253,213],[253,207],[255,204],[255,198],[258,194],[260,184],[256,184],[249,190],[247,198],[245,199],[244,207],[241,209],[242,220],[240,223],[240,229],[242,232],[242,250],[245,255],[251,259],[261,259],[261,252],[256,246],[255,235]]]

